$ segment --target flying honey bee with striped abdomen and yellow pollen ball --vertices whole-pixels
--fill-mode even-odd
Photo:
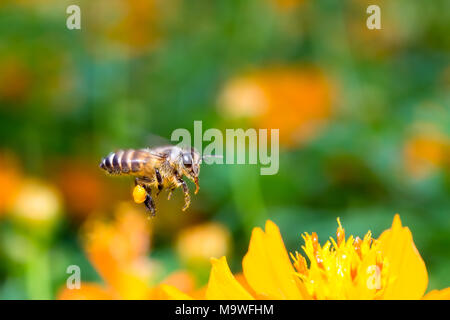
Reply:
[[[194,148],[162,146],[147,149],[129,149],[112,152],[102,159],[100,168],[112,175],[135,177],[133,191],[135,202],[143,202],[151,216],[156,215],[152,189],[156,196],[164,189],[172,192],[181,187],[184,193],[183,211],[189,208],[191,197],[183,176],[195,183],[197,194],[200,189],[198,176],[202,157]]]

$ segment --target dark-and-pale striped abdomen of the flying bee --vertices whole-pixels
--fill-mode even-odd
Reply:
[[[145,158],[141,150],[119,150],[103,158],[100,168],[110,174],[133,174],[142,169]]]

